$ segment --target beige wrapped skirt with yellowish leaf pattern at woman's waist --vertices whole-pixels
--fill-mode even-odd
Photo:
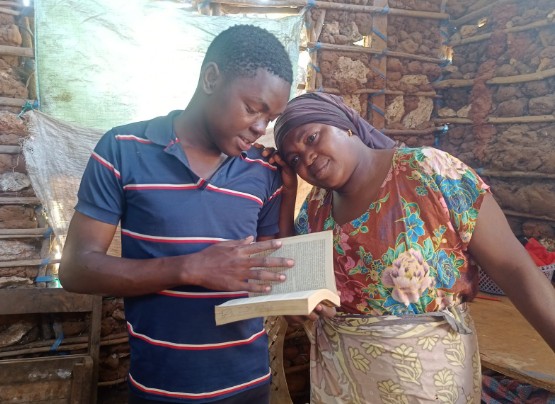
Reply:
[[[311,403],[480,403],[466,305],[410,316],[338,315],[307,329]]]

